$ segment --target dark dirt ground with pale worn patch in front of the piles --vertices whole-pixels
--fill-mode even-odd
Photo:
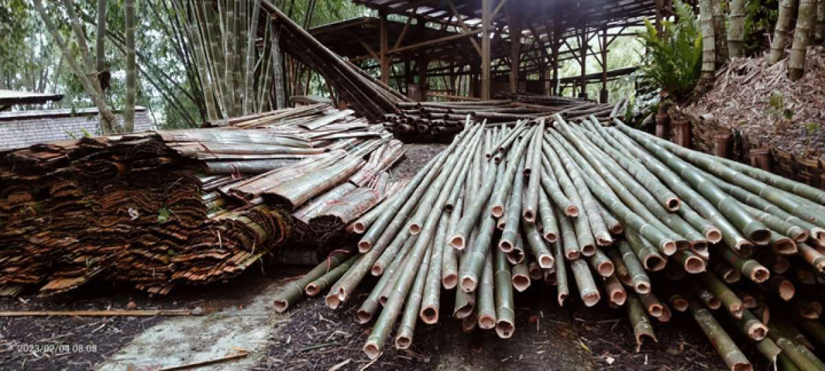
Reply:
[[[445,147],[410,145],[394,176],[412,176]],[[452,296],[445,294],[439,325],[419,323],[411,350],[395,350],[388,341],[384,354],[370,361],[361,346],[371,324],[359,325],[355,311],[374,283],[371,277],[337,310],[326,308],[322,297],[304,299],[283,314],[271,310],[283,285],[306,270],[256,265],[229,283],[181,288],[163,297],[92,284],[50,298],[36,293],[0,298],[0,310],[7,311],[125,309],[134,302],[136,309],[205,312],[199,317],[0,317],[0,369],[153,370],[214,359],[224,351],[215,349],[218,343],[243,345],[250,355],[208,369],[725,369],[686,314],[655,323],[658,343],[645,343],[637,352],[624,309],[584,308],[575,298],[559,308],[555,289],[544,284],[516,294],[511,339],[498,339],[492,331],[461,331],[450,317]],[[750,359],[761,361],[757,355]]]

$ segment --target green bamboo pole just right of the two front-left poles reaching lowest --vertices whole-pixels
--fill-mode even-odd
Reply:
[[[444,257],[444,250],[447,238],[448,217],[446,213],[441,214],[436,229],[436,238],[433,240],[431,251],[431,261],[427,271],[427,280],[424,284],[423,297],[421,302],[422,322],[431,325],[438,322],[439,299],[441,298],[441,266]],[[447,247],[450,250],[450,247]],[[455,251],[450,251],[455,253]]]

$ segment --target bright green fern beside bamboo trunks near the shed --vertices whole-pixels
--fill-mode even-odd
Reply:
[[[702,35],[699,17],[690,5],[677,0],[673,8],[678,21],[662,21],[662,35],[650,21],[644,21],[645,31],[639,40],[648,53],[641,70],[676,101],[686,101],[699,81]]]

